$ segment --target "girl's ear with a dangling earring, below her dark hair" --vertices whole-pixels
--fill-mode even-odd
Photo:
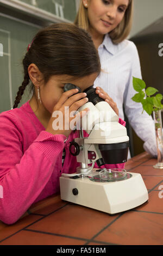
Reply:
[[[33,85],[37,86],[37,84],[42,79],[42,73],[40,72],[39,68],[37,68],[37,66],[34,63],[29,65],[28,74],[29,74],[29,78],[32,81]]]

